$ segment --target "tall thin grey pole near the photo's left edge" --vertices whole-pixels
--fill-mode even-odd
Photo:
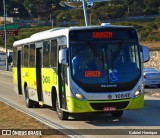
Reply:
[[[6,3],[3,0],[3,9],[4,9],[4,46],[6,49],[6,70],[8,71],[8,50],[7,50],[7,31],[6,31]]]

